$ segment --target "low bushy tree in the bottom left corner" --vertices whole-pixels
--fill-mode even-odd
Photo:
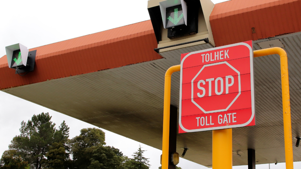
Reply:
[[[29,169],[29,164],[15,150],[6,150],[0,160],[0,169]]]

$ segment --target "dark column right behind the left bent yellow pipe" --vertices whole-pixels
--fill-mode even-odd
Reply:
[[[178,108],[170,105],[168,169],[175,169],[175,165],[171,162],[171,156],[177,151],[177,117]]]

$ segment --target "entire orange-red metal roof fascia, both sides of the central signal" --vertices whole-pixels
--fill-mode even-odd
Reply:
[[[210,15],[216,46],[301,31],[301,0],[231,0]],[[255,33],[252,33],[255,28]],[[0,90],[162,58],[150,20],[30,49],[35,70],[26,76],[0,58]]]

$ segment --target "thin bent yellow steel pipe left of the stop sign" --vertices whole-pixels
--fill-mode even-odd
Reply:
[[[170,86],[171,75],[178,72],[181,65],[172,66],[167,69],[164,81],[164,107],[163,107],[163,139],[162,139],[162,169],[168,169],[169,151],[169,114],[170,114]]]

